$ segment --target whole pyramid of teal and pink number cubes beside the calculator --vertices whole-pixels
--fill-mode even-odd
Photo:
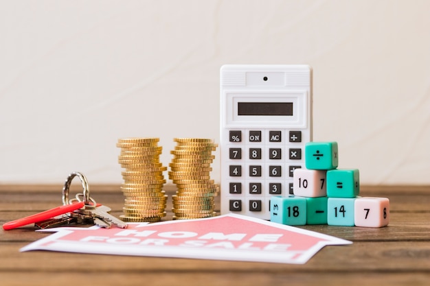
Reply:
[[[310,142],[306,169],[295,169],[293,193],[271,198],[271,221],[298,226],[382,227],[389,222],[387,198],[361,198],[358,169],[337,169],[336,142]]]

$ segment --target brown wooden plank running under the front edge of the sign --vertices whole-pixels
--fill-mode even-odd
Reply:
[[[157,257],[126,257],[66,252],[18,252],[27,243],[2,243],[0,272],[38,270],[84,272],[92,265],[98,272],[422,272],[430,273],[428,241],[356,242],[326,246],[305,265],[253,263]],[[44,261],[43,265],[34,261]]]

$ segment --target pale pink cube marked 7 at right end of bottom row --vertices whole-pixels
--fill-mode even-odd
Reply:
[[[367,228],[381,228],[389,222],[387,198],[363,197],[354,202],[354,224]]]

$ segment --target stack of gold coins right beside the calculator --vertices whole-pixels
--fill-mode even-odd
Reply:
[[[212,152],[218,144],[212,139],[175,138],[177,145],[169,164],[170,180],[177,186],[172,196],[173,219],[214,217],[215,198],[219,187],[210,179]]]

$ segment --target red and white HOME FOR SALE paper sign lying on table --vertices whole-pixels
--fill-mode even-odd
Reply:
[[[128,228],[52,228],[21,251],[52,250],[146,257],[306,263],[321,248],[350,244],[329,235],[244,215],[129,223]]]

